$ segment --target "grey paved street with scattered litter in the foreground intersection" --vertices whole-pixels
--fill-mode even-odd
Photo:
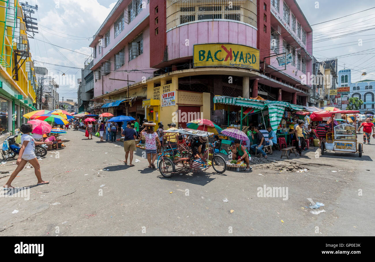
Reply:
[[[253,164],[252,172],[216,174],[210,168],[171,179],[148,169],[139,148],[135,159],[140,162],[129,167],[122,162],[120,142],[87,140],[84,132],[74,130],[63,139],[66,147],[57,151],[58,158],[49,151],[39,160],[42,178],[50,184],[31,186],[28,201],[0,198],[1,236],[365,236],[375,232],[374,139],[364,145],[362,158],[333,152],[315,158],[315,147],[303,157],[281,160],[277,151],[268,159],[276,162]],[[0,171],[12,172],[15,161],[6,161]],[[283,166],[288,169],[291,164],[308,171],[285,171]],[[0,174],[5,176],[1,185],[7,175]],[[34,184],[33,168],[24,169],[12,183],[15,187]],[[258,197],[257,189],[264,185],[287,187],[288,199]],[[223,202],[225,198],[228,202]],[[326,212],[311,214],[307,198],[323,203],[318,210]]]

